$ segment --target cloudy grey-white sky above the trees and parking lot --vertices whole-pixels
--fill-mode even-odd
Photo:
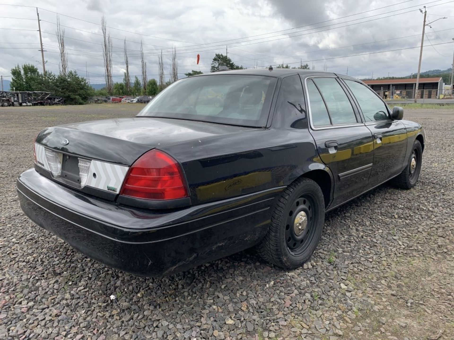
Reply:
[[[0,5],[0,74],[17,63],[42,70],[35,7],[28,1]],[[43,31],[46,69],[58,73],[56,17],[65,29],[69,68],[91,83],[104,83],[100,19],[105,15],[113,40],[114,81],[124,72],[126,38],[130,74],[140,78],[140,41],[148,78],[157,78],[158,53],[165,73],[171,48],[177,49],[179,78],[191,69],[209,71],[214,53],[225,53],[243,67],[303,63],[316,70],[374,78],[405,76],[418,67],[423,15],[426,27],[422,71],[449,68],[453,59],[454,1],[451,0],[35,0]],[[17,6],[16,6],[17,5]],[[19,6],[22,5],[22,6]],[[66,27],[63,27],[66,26]],[[447,44],[443,44],[447,43]],[[430,46],[433,44],[433,46]],[[393,52],[365,54],[381,51]],[[200,64],[196,64],[197,53]],[[362,55],[357,55],[362,54]],[[357,55],[357,56],[352,56]],[[10,79],[10,78],[5,78]]]

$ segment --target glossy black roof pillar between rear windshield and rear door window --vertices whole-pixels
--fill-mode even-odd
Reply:
[[[275,112],[275,126],[296,129],[307,127],[303,87],[298,75],[282,80]]]

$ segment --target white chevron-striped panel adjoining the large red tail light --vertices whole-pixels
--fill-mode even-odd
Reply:
[[[86,186],[119,193],[128,167],[92,160]]]

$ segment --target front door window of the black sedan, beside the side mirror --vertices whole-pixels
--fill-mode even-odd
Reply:
[[[384,102],[368,86],[353,80],[344,79],[360,105],[365,121],[383,121],[390,119]]]

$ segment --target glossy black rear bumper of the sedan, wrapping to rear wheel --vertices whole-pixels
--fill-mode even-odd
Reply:
[[[283,189],[169,212],[81,194],[34,169],[16,184],[22,210],[40,227],[109,267],[141,276],[169,275],[257,244]]]

